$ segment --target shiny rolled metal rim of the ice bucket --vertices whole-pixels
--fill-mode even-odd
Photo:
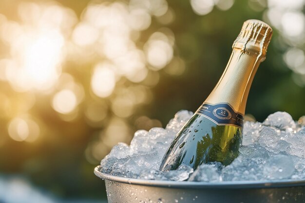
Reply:
[[[276,180],[276,181],[229,181],[217,183],[205,182],[177,182],[177,181],[159,181],[159,180],[143,180],[134,178],[125,178],[120,176],[113,176],[100,172],[101,166],[96,166],[94,173],[97,177],[108,181],[118,183],[132,184],[132,185],[146,185],[157,187],[171,187],[171,188],[224,188],[224,189],[237,189],[237,188],[270,188],[270,187],[296,187],[304,186],[305,179],[301,180]]]

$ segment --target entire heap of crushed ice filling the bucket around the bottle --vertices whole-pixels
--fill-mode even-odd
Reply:
[[[214,162],[161,173],[158,169],[176,133],[191,118],[179,111],[165,129],[134,133],[130,146],[119,143],[101,161],[101,172],[127,178],[170,181],[263,181],[305,178],[305,117],[295,122],[286,112],[270,114],[263,123],[246,121],[240,155],[229,165]]]

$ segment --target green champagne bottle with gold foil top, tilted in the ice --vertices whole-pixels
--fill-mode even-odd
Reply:
[[[203,163],[229,165],[242,142],[249,89],[259,64],[265,60],[272,29],[260,20],[244,22],[233,43],[228,65],[201,107],[178,132],[165,153],[160,170]]]

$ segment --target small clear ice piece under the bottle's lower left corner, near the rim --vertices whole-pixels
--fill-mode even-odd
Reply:
[[[185,181],[193,171],[194,169],[190,166],[180,165],[177,170],[165,172],[164,177],[170,181]]]

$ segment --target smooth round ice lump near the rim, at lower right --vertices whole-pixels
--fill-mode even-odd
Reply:
[[[270,157],[264,165],[264,176],[266,179],[288,179],[295,168],[289,156],[277,154]]]

